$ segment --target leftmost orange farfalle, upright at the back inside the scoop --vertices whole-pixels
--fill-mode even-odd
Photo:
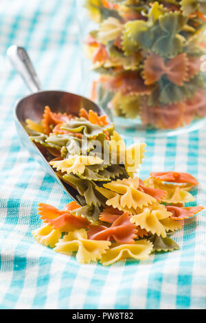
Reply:
[[[71,115],[67,115],[67,113],[54,113],[48,106],[45,107],[43,114],[43,127],[47,135],[52,132],[51,126],[56,126],[56,124],[62,124],[63,122],[69,122],[69,120],[71,120]]]

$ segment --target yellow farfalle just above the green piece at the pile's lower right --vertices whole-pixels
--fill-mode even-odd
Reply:
[[[154,203],[141,210],[139,214],[131,216],[130,222],[139,225],[141,229],[145,229],[147,232],[165,237],[166,230],[162,221],[168,219],[171,215],[172,213],[168,212],[164,205]]]

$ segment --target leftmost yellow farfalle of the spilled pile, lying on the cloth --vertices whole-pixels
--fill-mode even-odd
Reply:
[[[49,247],[54,248],[62,233],[59,229],[54,230],[51,225],[43,225],[43,227],[33,230],[32,235],[41,245],[48,245]]]

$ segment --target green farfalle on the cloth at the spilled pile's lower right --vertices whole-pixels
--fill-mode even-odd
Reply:
[[[174,250],[179,249],[179,245],[169,238],[169,236],[165,236],[165,238],[163,238],[162,236],[154,234],[149,238],[149,240],[153,244],[152,252],[173,252]]]

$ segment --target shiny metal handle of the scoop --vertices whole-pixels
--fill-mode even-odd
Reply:
[[[30,91],[32,91],[32,93],[41,91],[41,83],[38,80],[38,76],[36,75],[36,71],[34,70],[26,50],[23,47],[12,45],[8,48],[7,56],[14,69],[16,69],[16,71],[21,75]]]

